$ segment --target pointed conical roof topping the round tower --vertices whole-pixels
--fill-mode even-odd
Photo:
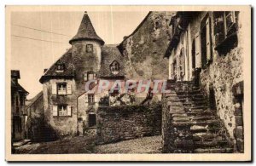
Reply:
[[[69,43],[73,43],[74,41],[79,40],[96,40],[100,42],[102,45],[104,44],[102,38],[96,34],[96,31],[91,24],[87,12],[84,12],[84,17],[79,26],[78,33],[69,41]]]

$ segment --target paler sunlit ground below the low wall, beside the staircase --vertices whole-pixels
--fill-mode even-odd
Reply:
[[[160,153],[161,136],[124,140],[117,143],[96,146],[95,153]]]

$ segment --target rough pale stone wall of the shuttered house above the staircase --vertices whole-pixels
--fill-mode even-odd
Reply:
[[[201,69],[201,89],[210,98],[210,88],[213,89],[215,94],[216,108],[218,116],[224,121],[231,138],[234,138],[234,129],[236,128],[236,117],[234,115],[235,106],[233,104],[234,96],[232,94],[232,88],[236,83],[240,83],[243,80],[242,65],[243,65],[243,50],[241,47],[241,23],[238,19],[239,31],[237,31],[238,43],[236,48],[228,50],[227,54],[219,54],[215,50],[216,44],[214,39],[214,24],[212,12],[201,12],[198,16],[190,20],[189,31],[189,47],[191,47],[192,40],[195,38],[196,33],[200,31],[201,20],[203,20],[208,14],[211,24],[211,36],[212,36],[212,62],[205,69]],[[180,45],[181,41],[178,43]],[[175,58],[175,53],[179,48],[172,51],[170,63]],[[191,68],[191,49],[189,49],[189,75],[192,75]],[[192,77],[190,77],[191,79]],[[189,80],[190,80],[189,79]],[[208,99],[210,100],[210,99]],[[210,105],[210,101],[209,101]]]

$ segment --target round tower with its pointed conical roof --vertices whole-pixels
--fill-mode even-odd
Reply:
[[[104,41],[96,34],[87,12],[84,12],[79,31],[69,43],[72,44],[77,81],[83,83],[86,77],[90,78],[87,76],[89,73],[95,73],[94,76],[96,76],[101,66]]]

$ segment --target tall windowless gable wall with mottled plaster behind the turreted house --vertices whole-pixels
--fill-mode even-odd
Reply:
[[[168,77],[168,61],[163,57],[169,43],[171,16],[172,12],[151,12],[131,36],[125,37],[120,48],[127,58],[126,77],[131,79]]]

